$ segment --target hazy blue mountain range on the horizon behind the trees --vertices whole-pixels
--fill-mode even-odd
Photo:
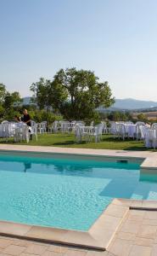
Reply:
[[[29,105],[31,103],[31,97],[27,96],[23,98],[23,105]],[[132,98],[128,99],[115,99],[115,104],[110,108],[112,110],[116,109],[147,109],[147,108],[157,108],[157,102],[152,101],[140,101]]]

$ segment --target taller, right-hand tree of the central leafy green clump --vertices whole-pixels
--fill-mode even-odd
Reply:
[[[108,82],[98,83],[91,71],[60,69],[53,83],[59,84],[68,96],[58,106],[67,119],[93,119],[96,108],[109,108],[115,102]]]

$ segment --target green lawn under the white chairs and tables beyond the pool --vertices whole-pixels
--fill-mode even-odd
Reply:
[[[6,143],[5,140],[0,139],[0,143]],[[8,143],[14,143],[12,139]],[[27,143],[18,143],[27,144]],[[104,135],[100,143],[76,143],[74,135],[67,133],[58,134],[42,134],[38,135],[38,141],[35,138],[28,145],[32,146],[53,146],[53,147],[68,147],[68,148],[98,148],[98,149],[124,149],[124,150],[147,150],[143,142],[126,139],[122,141],[115,139],[111,135]]]

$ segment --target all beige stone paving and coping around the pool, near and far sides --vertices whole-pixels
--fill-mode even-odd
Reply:
[[[0,150],[142,160],[143,172],[157,171],[157,153],[149,151],[10,144],[1,144]],[[157,201],[115,199],[92,228],[84,234],[70,230],[59,234],[53,229],[43,229],[45,228],[39,230],[34,226],[0,222],[0,256],[155,256],[157,255]]]

